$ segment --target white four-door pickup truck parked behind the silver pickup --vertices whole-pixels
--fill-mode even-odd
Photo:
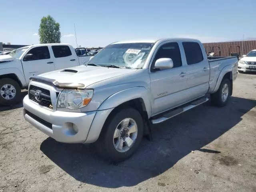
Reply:
[[[30,76],[78,66],[89,58],[76,56],[70,44],[31,45],[0,55],[0,105],[16,104]]]

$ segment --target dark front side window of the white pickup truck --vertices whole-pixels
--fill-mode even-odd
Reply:
[[[47,46],[35,47],[28,51],[23,61],[50,59],[50,52]]]

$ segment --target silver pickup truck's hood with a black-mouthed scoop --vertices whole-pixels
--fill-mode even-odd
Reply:
[[[137,69],[107,68],[98,66],[76,66],[40,74],[38,76],[54,79],[59,83],[81,83],[84,88],[116,76],[135,72]]]

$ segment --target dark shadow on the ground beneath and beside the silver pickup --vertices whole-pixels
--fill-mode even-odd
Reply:
[[[44,140],[42,152],[57,166],[80,182],[106,188],[134,186],[172,168],[192,150],[220,153],[220,149],[201,149],[233,128],[256,106],[255,100],[232,97],[226,107],[205,104],[153,127],[153,142],[142,140],[132,158],[108,164],[98,158],[92,146]]]

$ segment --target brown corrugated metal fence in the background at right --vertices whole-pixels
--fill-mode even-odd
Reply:
[[[251,50],[256,49],[256,40],[244,41],[243,46],[242,41],[203,43],[203,45],[206,49],[206,53],[210,52],[212,48],[211,52],[214,52],[216,56],[230,56],[230,46],[234,46],[231,48],[231,53],[239,52],[239,48],[236,46],[240,46],[240,56],[242,56],[246,55]]]

